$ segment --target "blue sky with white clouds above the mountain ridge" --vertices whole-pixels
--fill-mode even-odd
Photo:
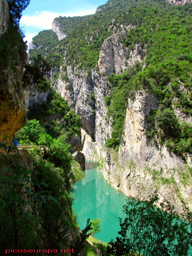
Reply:
[[[52,29],[52,21],[61,16],[84,16],[96,12],[96,8],[107,0],[31,0],[23,11],[20,26],[29,43],[38,32]]]

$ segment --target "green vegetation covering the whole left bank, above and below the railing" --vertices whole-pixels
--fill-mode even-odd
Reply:
[[[72,183],[84,175],[67,144],[71,135],[80,134],[80,118],[51,88],[47,102],[34,105],[29,117],[27,125],[15,137],[21,145],[45,148],[29,149],[31,154],[23,150],[12,156],[0,155],[1,249],[59,251],[67,246],[71,235],[73,244],[68,247],[76,249],[77,256],[84,249],[84,240],[91,229],[89,223],[79,233],[70,194]],[[6,142],[0,147],[6,153],[12,150]]]

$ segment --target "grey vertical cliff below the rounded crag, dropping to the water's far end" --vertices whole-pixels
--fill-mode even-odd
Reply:
[[[108,79],[97,71],[87,76],[85,70],[75,68],[73,71],[71,67],[67,67],[67,77],[70,82],[63,78],[61,68],[58,81],[52,85],[81,116],[82,152],[87,159],[93,160],[93,153],[101,152],[111,135],[111,128],[106,125],[105,96],[111,92]]]

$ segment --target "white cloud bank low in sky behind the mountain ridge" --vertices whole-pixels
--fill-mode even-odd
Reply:
[[[73,16],[84,16],[95,13],[95,9],[79,11],[79,12],[68,12],[68,13],[57,13],[57,12],[35,12],[33,15],[23,15],[20,19],[20,26],[24,26],[25,35],[24,41],[28,41],[27,45],[32,41],[32,38],[37,35],[38,32],[44,29],[52,29],[52,21],[54,18],[59,16],[73,17]],[[29,32],[30,31],[30,32]]]

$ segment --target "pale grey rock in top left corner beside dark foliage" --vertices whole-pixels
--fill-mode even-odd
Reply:
[[[6,31],[9,25],[9,6],[7,0],[0,1],[0,36]]]

